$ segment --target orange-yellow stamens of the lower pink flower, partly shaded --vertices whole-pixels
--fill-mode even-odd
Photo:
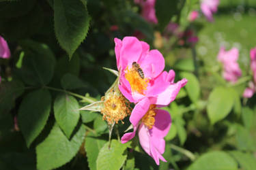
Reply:
[[[150,109],[148,109],[147,113],[143,116],[141,121],[148,129],[152,129],[152,126],[155,124],[155,112],[156,105],[150,105]]]

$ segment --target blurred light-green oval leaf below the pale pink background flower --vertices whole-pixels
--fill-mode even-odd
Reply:
[[[233,107],[233,93],[229,88],[216,87],[210,93],[207,113],[211,124],[225,118]]]

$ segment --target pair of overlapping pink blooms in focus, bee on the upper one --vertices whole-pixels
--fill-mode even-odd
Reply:
[[[168,112],[156,109],[156,106],[169,105],[187,80],[174,83],[174,71],[163,71],[165,59],[162,54],[150,50],[147,43],[136,37],[115,38],[115,55],[117,69],[121,72],[119,90],[126,99],[136,103],[130,116],[133,132],[124,134],[122,143],[132,139],[139,127],[142,148],[159,165],[159,159],[165,161],[162,157],[165,150],[163,137],[169,131],[171,118]]]

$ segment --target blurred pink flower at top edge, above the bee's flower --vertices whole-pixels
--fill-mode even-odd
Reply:
[[[154,24],[158,23],[155,10],[156,0],[134,0],[134,3],[138,3],[139,5],[141,5],[141,16],[145,20],[147,20],[148,22],[152,22]]]

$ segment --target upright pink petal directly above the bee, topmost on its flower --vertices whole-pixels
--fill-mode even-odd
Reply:
[[[126,69],[127,65],[132,65],[141,57],[142,46],[136,37],[124,37],[122,48],[120,50],[120,61],[122,69]]]

